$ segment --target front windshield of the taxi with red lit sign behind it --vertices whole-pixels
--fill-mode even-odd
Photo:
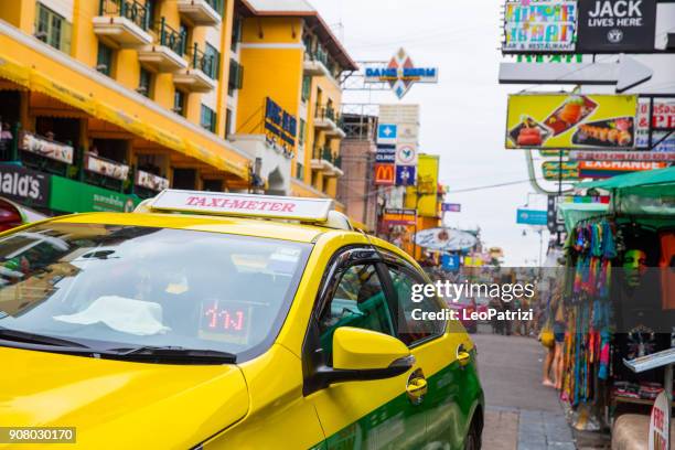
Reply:
[[[242,361],[276,338],[310,249],[185,229],[35,225],[0,237],[0,332]]]

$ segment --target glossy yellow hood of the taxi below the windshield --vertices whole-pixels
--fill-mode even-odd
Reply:
[[[189,449],[248,411],[236,365],[146,364],[9,347],[0,347],[0,424],[76,427],[83,448]]]

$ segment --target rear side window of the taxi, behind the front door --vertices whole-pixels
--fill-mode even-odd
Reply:
[[[425,297],[420,302],[411,300],[413,286],[424,283],[424,279],[421,277],[414,277],[407,270],[398,267],[389,267],[389,277],[396,292],[396,304],[398,307],[398,339],[410,346],[441,334],[444,329],[442,322],[413,319],[413,311],[415,309],[427,312],[441,310],[436,298]]]

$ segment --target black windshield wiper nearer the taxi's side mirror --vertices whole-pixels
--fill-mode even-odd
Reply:
[[[186,349],[182,346],[140,345],[129,349],[107,349],[103,357],[119,357],[136,361],[158,361],[162,363],[234,364],[237,355],[217,350]]]

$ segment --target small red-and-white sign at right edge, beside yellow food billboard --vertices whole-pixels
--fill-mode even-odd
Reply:
[[[652,151],[675,152],[675,132],[668,135],[666,130],[675,130],[675,99],[654,98],[652,105],[652,146],[660,142]],[[665,138],[665,139],[664,139]],[[638,105],[638,119],[635,124],[635,147],[649,149],[650,146],[650,100],[641,98]]]

